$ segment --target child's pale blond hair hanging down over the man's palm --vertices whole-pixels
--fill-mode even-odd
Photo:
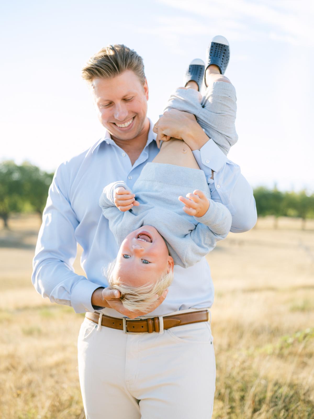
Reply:
[[[127,310],[149,312],[149,308],[155,301],[155,295],[158,297],[171,285],[173,279],[173,272],[164,272],[155,284],[145,284],[139,287],[131,287],[121,282],[121,278],[117,277],[114,272],[116,266],[116,259],[114,259],[106,269],[103,269],[103,274],[107,277],[109,287],[113,290],[121,292],[121,302]]]

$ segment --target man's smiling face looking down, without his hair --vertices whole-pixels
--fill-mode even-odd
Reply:
[[[148,86],[126,70],[116,77],[92,81],[98,118],[112,139],[131,140],[145,129]]]

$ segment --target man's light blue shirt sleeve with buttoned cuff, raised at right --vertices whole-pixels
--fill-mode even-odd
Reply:
[[[210,139],[193,155],[206,175],[211,199],[221,202],[232,215],[230,231],[242,233],[254,227],[257,212],[253,189],[242,175],[240,167],[229,160]],[[214,179],[211,179],[211,170]]]

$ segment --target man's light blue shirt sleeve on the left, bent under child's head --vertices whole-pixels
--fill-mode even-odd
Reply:
[[[32,283],[51,303],[69,305],[75,313],[93,312],[91,297],[99,288],[73,269],[77,253],[75,229],[79,225],[67,197],[65,163],[57,168],[49,188],[43,222],[33,258]]]

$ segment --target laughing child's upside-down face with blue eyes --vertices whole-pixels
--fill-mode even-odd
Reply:
[[[151,225],[132,231],[122,242],[115,276],[131,287],[154,284],[163,273],[173,270],[173,259],[162,236]]]

